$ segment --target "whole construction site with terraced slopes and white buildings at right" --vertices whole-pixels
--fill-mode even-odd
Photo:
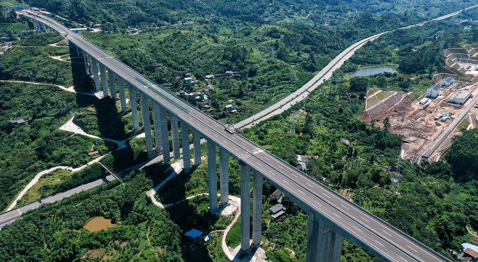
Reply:
[[[390,130],[404,136],[400,155],[402,159],[408,159],[412,163],[440,160],[451,145],[453,136],[460,135],[460,130],[476,128],[478,125],[478,77],[464,74],[465,71],[476,72],[469,64],[475,61],[478,63],[477,47],[463,48],[460,55],[450,52],[456,51],[457,48],[445,52],[453,68],[460,68],[463,74],[457,76],[450,70],[435,72],[433,80],[436,86],[430,87],[429,90],[438,89],[439,95],[436,97],[427,97],[425,91],[420,95],[416,92],[371,88],[367,92],[366,107],[360,118],[382,126],[383,119],[388,117]],[[451,84],[445,83],[447,78],[451,79]]]

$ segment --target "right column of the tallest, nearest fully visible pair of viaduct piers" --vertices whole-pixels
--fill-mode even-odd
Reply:
[[[262,240],[262,174],[256,170],[252,183],[252,246],[256,247],[261,245]]]

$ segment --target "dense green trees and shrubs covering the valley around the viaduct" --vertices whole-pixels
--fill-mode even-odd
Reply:
[[[103,23],[102,33],[86,33],[85,37],[172,91],[183,89],[191,92],[198,87],[213,85],[215,90],[208,95],[214,109],[208,113],[224,121],[240,118],[301,86],[312,77],[312,73],[358,39],[416,23],[426,17],[436,17],[440,12],[446,13],[447,8],[455,11],[470,5],[469,2],[453,2],[446,7],[433,1],[411,3],[426,9],[421,16],[417,10],[397,15],[405,12],[403,2],[388,5],[339,0],[313,4],[280,1],[272,5],[248,1],[185,4],[81,0],[36,1],[32,4],[74,20],[69,25],[90,21]],[[317,6],[321,7],[320,11],[314,11],[319,10]],[[381,18],[370,13],[346,15],[356,8],[393,14],[384,14]],[[300,18],[307,14],[311,14],[307,19],[284,24],[267,24],[263,20],[264,17]],[[325,22],[326,16],[338,20],[334,20],[328,29],[316,27]],[[476,13],[463,12],[461,17],[475,16]],[[341,19],[346,21],[340,22]],[[168,22],[177,20],[193,20],[197,24],[186,30],[169,27]],[[140,25],[142,22],[147,24]],[[12,24],[10,28],[15,30],[25,28],[22,20],[13,23],[11,14],[0,23]],[[166,25],[166,28],[152,28],[151,23]],[[122,31],[119,28],[128,26],[138,26],[142,33],[118,33]],[[449,28],[451,33],[442,33],[443,28]],[[439,52],[441,43],[443,48],[453,47],[462,41],[476,41],[477,36],[476,29],[463,31],[461,26],[449,22],[434,22],[389,33],[388,37],[379,38],[358,51],[345,64],[343,71],[351,72],[372,63],[388,63],[400,72],[420,75],[420,78],[409,81],[384,74],[350,80],[338,71],[342,76],[340,83],[334,83],[335,86],[330,82],[323,84],[305,101],[245,130],[244,135],[292,165],[297,164],[295,154],[309,156],[305,172],[312,177],[334,189],[347,189],[355,203],[435,250],[442,253],[447,248],[458,250],[459,244],[466,240],[465,227],[471,225],[478,229],[478,216],[474,215],[473,208],[478,195],[476,170],[472,164],[461,165],[462,159],[474,159],[476,155],[476,147],[472,147],[476,144],[475,132],[465,132],[462,138],[455,139],[446,155],[448,164],[412,166],[404,163],[402,176],[395,184],[391,180],[392,174],[378,165],[395,166],[402,138],[389,132],[388,128],[366,124],[355,116],[363,108],[361,97],[367,86],[423,89],[430,84],[428,78],[433,71],[443,66]],[[69,87],[75,82],[69,76],[76,71],[68,63],[48,57],[69,52],[66,47],[46,46],[60,39],[58,34],[49,33],[21,41],[0,56],[2,77]],[[271,48],[274,59],[270,58]],[[420,66],[415,66],[417,64]],[[200,80],[199,85],[188,87],[181,79],[173,79],[171,73],[176,70],[190,71]],[[204,80],[206,74],[226,70],[236,73],[231,78]],[[57,74],[46,74],[50,71]],[[75,122],[91,134],[117,140],[131,136],[131,119],[118,115],[117,105],[107,99],[92,101],[91,97],[60,92],[54,86],[4,82],[0,85],[4,112],[0,119],[0,146],[3,149],[0,155],[3,170],[0,175],[0,210],[6,208],[36,172],[58,164],[81,165],[89,160],[85,153],[92,145],[102,154],[114,149],[102,141],[70,137],[71,134],[57,130],[74,113],[82,112]],[[86,90],[91,87],[88,81],[80,85],[86,86]],[[227,101],[229,99],[233,102]],[[246,110],[227,115],[222,111],[226,103],[242,105]],[[298,109],[305,112],[296,116],[295,121],[291,120],[288,114]],[[25,114],[34,120],[18,127],[9,122]],[[113,121],[107,123],[105,119]],[[291,125],[294,128],[290,128]],[[295,130],[293,134],[289,134],[291,129]],[[341,138],[351,144],[342,145]],[[128,148],[108,154],[103,161],[115,170],[122,170],[147,159],[144,140],[129,143]],[[85,261],[104,256],[113,261],[182,261],[183,257],[191,261],[226,260],[220,249],[220,235],[201,247],[197,255],[180,255],[181,231],[192,227],[223,229],[230,223],[230,218],[211,216],[207,212],[205,196],[167,210],[152,206],[142,192],[168,175],[164,172],[165,167],[156,164],[133,172],[125,184],[112,182],[31,211],[24,219],[0,231],[0,260],[72,261],[79,260],[88,250],[94,250],[98,255],[87,255]],[[230,194],[239,192],[238,172],[237,162],[230,160]],[[98,166],[93,165],[72,175],[71,180],[60,183],[53,191],[99,176]],[[263,237],[278,245],[274,250],[268,250],[267,256],[274,262],[303,260],[308,217],[285,200],[290,213],[271,220],[267,209],[273,205],[269,195],[274,189],[269,183],[264,183]],[[163,203],[171,203],[207,191],[207,170],[203,165],[172,179],[156,197]],[[82,230],[85,221],[94,216],[111,219],[118,226],[99,232]],[[288,251],[282,247],[292,248],[296,258],[288,257]],[[379,260],[347,241],[342,259]]]

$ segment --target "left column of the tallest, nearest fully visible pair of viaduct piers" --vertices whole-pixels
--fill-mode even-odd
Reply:
[[[241,250],[250,248],[251,231],[251,167],[239,160],[241,165]]]

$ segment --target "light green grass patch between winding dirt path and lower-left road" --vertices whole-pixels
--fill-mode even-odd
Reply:
[[[66,169],[56,169],[49,173],[46,173],[40,177],[27,192],[23,195],[22,199],[18,201],[16,207],[21,207],[28,203],[39,201],[43,196],[50,195],[53,192],[53,188],[69,178],[73,173]]]

